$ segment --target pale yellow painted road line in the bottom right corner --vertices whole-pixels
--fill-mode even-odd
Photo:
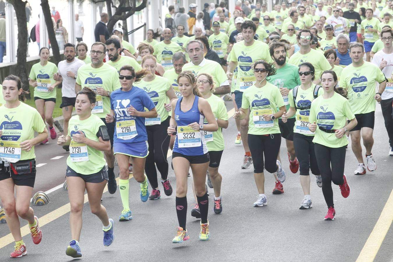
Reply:
[[[384,209],[382,209],[382,213],[378,218],[378,221],[375,224],[373,231],[366,243],[362,251],[360,251],[358,259],[356,262],[372,262],[378,253],[379,248],[384,241],[387,231],[390,228],[390,225],[393,221],[393,190],[390,193],[389,198],[385,204]]]

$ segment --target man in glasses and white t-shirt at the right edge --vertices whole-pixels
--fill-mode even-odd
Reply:
[[[393,32],[390,28],[385,27],[381,31],[381,40],[384,43],[384,48],[375,53],[373,57],[373,64],[376,64],[384,73],[386,78],[391,78],[393,73],[393,46],[392,46]],[[387,136],[389,137],[389,156],[393,156],[393,117],[392,117],[392,101],[393,101],[393,83],[387,82],[386,88],[381,95],[382,115],[385,120],[385,127]]]

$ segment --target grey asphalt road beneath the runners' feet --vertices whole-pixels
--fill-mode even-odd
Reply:
[[[226,102],[228,111],[233,107]],[[342,198],[338,186],[334,186],[336,220],[324,221],[327,207],[321,189],[314,178],[311,181],[313,208],[299,210],[303,192],[299,175],[292,174],[286,157],[285,141],[281,143],[281,158],[286,170],[284,194],[271,194],[274,177],[265,173],[265,190],[268,205],[253,207],[257,189],[253,179],[253,168],[241,170],[243,147],[235,145],[236,126],[230,118],[230,126],[224,130],[226,149],[220,165],[222,180],[222,214],[213,214],[213,189],[209,189],[209,223],[211,239],[199,241],[199,220],[191,217],[193,195],[189,179],[187,229],[190,240],[172,244],[176,234],[177,218],[174,195],[165,196],[162,186],[160,200],[142,203],[139,184],[130,180],[130,207],[133,219],[118,222],[122,206],[117,191],[105,192],[103,205],[115,220],[115,240],[109,247],[102,244],[102,225],[90,213],[88,203],[83,211],[83,228],[80,246],[85,261],[356,261],[367,238],[380,217],[393,189],[393,157],[387,156],[389,144],[380,106],[377,104],[374,131],[374,150],[377,169],[364,176],[354,176],[357,161],[352,150],[347,150],[345,174],[351,187],[348,198]],[[51,140],[49,145],[36,147],[37,178],[34,191],[47,191],[64,182],[66,157],[68,154]],[[52,159],[60,157],[59,159]],[[170,161],[171,158],[168,158]],[[118,168],[116,167],[116,170]],[[116,171],[115,170],[115,171]],[[117,173],[117,172],[116,172]],[[172,186],[176,188],[173,170],[169,170]],[[23,237],[28,255],[18,261],[68,261],[65,249],[70,241],[68,195],[62,188],[48,194],[50,204],[33,207],[42,225],[42,242],[35,246],[30,234]],[[1,205],[1,203],[0,203]],[[42,224],[40,222],[40,224]],[[379,251],[375,261],[393,261],[393,229],[389,228],[382,245],[371,250]],[[27,222],[22,221],[22,225]],[[378,239],[384,233],[374,232]],[[12,238],[7,237],[6,224],[0,224],[0,261],[9,261],[13,251]],[[361,260],[358,261],[370,261]],[[372,261],[372,260],[371,260]]]

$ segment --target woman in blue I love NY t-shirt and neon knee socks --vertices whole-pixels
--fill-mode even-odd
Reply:
[[[113,148],[120,170],[119,189],[123,204],[119,221],[132,219],[129,205],[130,157],[132,175],[141,184],[141,201],[146,202],[149,198],[149,181],[143,173],[146,156],[149,154],[145,117],[157,117],[157,111],[147,92],[133,86],[134,82],[139,82],[148,73],[146,69],[135,72],[134,68],[127,65],[120,68],[121,88],[113,92],[110,99],[110,114],[105,117],[107,123],[116,122]],[[149,111],[145,112],[145,108]]]

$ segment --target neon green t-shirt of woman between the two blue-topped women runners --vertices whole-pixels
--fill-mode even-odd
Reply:
[[[143,78],[139,83],[135,83],[134,86],[145,90],[149,94],[154,106],[156,106],[157,117],[161,118],[161,122],[167,120],[169,114],[164,108],[164,103],[167,103],[166,92],[171,88],[171,82],[164,77],[156,75],[152,81],[146,82],[145,78]]]

